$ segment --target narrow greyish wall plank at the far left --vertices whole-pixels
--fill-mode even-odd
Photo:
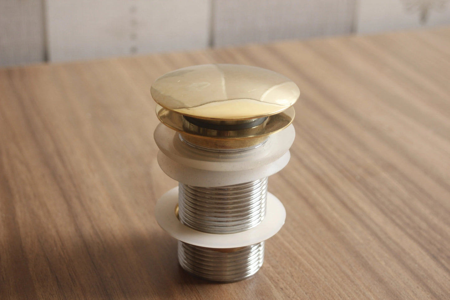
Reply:
[[[41,0],[0,0],[0,66],[45,59]]]

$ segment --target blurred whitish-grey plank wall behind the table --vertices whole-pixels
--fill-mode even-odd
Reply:
[[[449,0],[0,0],[0,66],[450,24]]]

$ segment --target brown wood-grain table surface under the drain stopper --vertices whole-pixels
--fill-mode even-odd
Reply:
[[[251,279],[178,265],[150,85],[192,64],[302,91]],[[0,70],[0,299],[450,299],[450,28]]]

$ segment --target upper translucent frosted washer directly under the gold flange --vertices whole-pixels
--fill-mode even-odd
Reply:
[[[195,149],[180,140],[179,133],[159,124],[154,132],[158,148],[171,160],[187,167],[210,171],[241,171],[270,164],[285,155],[295,138],[289,125],[276,132],[257,148],[237,153],[211,152]]]

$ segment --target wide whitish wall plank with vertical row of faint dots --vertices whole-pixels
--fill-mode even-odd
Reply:
[[[204,48],[209,0],[47,0],[51,61]]]

